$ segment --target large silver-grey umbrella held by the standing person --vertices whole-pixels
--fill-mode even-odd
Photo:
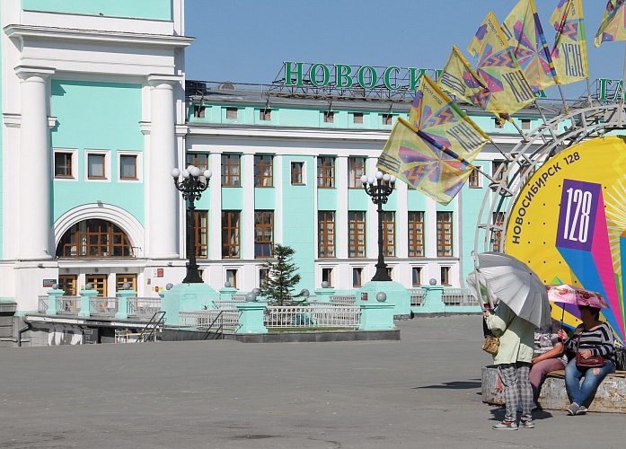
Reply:
[[[484,286],[476,288],[476,279]],[[478,255],[478,268],[467,278],[472,293],[478,298],[494,299],[507,304],[516,315],[537,327],[551,322],[548,291],[537,274],[516,258],[501,252]]]

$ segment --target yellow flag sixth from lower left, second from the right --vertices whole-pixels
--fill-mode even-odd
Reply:
[[[585,20],[580,0],[560,0],[550,23],[557,31],[551,56],[560,84],[575,83],[588,77]]]

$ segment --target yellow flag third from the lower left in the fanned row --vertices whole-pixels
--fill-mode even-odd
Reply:
[[[482,84],[478,74],[474,72],[470,63],[463,54],[452,46],[452,53],[445,64],[444,70],[436,81],[436,85],[443,90],[472,103],[481,110],[489,112],[504,112],[498,107],[498,101],[491,95],[489,89]]]

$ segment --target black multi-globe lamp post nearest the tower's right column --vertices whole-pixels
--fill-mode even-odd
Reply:
[[[206,170],[203,174],[206,179],[205,182],[200,180],[200,169],[190,165],[187,170],[182,171],[182,180],[180,181],[181,171],[177,168],[172,169],[172,178],[176,189],[182,192],[182,198],[189,201],[187,206],[187,257],[189,257],[189,262],[187,263],[187,276],[182,279],[183,284],[202,283],[202,277],[198,272],[198,262],[196,262],[196,230],[194,226],[196,206],[194,203],[208,188],[208,180],[211,179],[212,173],[210,170]]]

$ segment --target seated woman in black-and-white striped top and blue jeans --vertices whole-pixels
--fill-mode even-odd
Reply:
[[[565,339],[567,335],[563,330],[559,331],[559,337],[565,339],[564,346],[570,351],[578,350],[583,358],[602,356],[606,360],[606,365],[601,368],[581,368],[576,365],[576,358],[573,357],[566,366],[565,386],[571,401],[568,407],[570,415],[584,415],[586,407],[583,403],[595,393],[606,374],[615,371],[613,331],[608,324],[600,321],[600,309],[578,305],[578,310],[583,323],[576,328],[571,339]]]

